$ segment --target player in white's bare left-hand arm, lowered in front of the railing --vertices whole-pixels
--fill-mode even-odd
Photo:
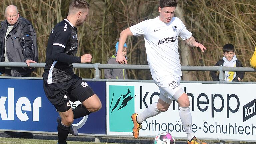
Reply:
[[[119,43],[118,43],[118,50],[117,50],[117,55],[116,55],[116,62],[118,62],[120,64],[124,64],[124,63],[127,64],[127,60],[122,55],[122,51],[123,51],[124,43],[125,43],[128,36],[133,36],[130,28],[127,28],[127,29],[123,30],[120,33]]]

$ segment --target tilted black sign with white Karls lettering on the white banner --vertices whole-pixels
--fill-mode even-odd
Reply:
[[[256,99],[244,105],[244,121],[256,115]]]

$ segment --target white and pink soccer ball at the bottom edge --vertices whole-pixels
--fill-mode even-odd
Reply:
[[[155,144],[175,144],[175,140],[171,134],[162,132],[156,136]]]

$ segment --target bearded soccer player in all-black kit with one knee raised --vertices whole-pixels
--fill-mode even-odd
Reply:
[[[66,19],[51,30],[46,49],[43,87],[48,100],[59,112],[58,144],[66,144],[68,133],[77,135],[72,126],[74,119],[101,109],[101,101],[92,88],[74,74],[72,63],[91,62],[91,54],[74,56],[78,49],[77,26],[81,26],[89,13],[89,3],[72,0]],[[69,100],[82,104],[73,111]]]

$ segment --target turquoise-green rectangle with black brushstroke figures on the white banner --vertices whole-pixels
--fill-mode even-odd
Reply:
[[[134,86],[109,86],[109,126],[112,132],[131,132]]]

